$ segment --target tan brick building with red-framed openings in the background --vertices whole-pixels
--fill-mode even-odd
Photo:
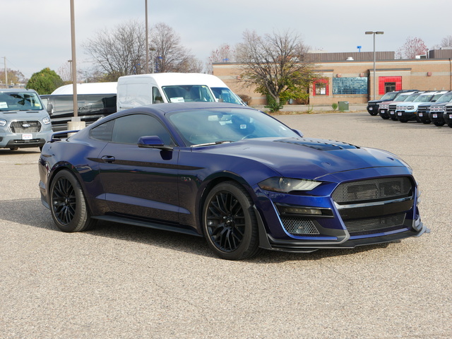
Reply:
[[[309,53],[316,80],[309,88],[309,105],[338,102],[365,103],[392,90],[452,90],[452,49],[434,49],[420,59],[394,59],[395,52]],[[237,63],[213,64],[213,75],[234,93],[251,97],[251,105],[266,97],[246,87]],[[374,81],[375,73],[375,81]],[[294,98],[296,99],[296,98]]]

